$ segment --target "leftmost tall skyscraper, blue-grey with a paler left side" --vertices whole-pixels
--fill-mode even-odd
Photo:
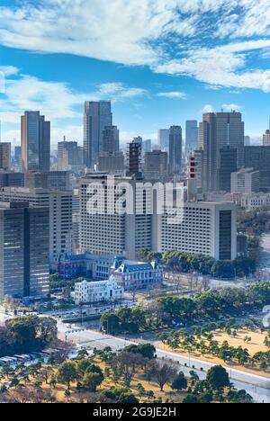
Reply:
[[[50,122],[40,112],[21,117],[22,167],[26,171],[49,171]]]

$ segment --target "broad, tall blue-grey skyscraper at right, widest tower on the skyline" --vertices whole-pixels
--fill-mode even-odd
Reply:
[[[199,148],[203,151],[203,190],[218,190],[220,149],[237,149],[238,168],[244,166],[244,122],[240,112],[209,112],[200,123]]]

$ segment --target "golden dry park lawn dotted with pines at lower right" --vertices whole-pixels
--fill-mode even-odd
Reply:
[[[248,353],[250,356],[253,356],[254,354],[257,354],[258,352],[267,352],[269,349],[264,344],[266,333],[261,333],[260,331],[251,331],[247,329],[240,329],[238,330],[238,335],[236,337],[229,336],[225,332],[211,332],[213,334],[213,340],[219,342],[219,345],[221,345],[224,341],[227,341],[230,346],[238,347],[242,346],[242,348],[247,348]],[[246,343],[244,342],[244,338],[248,336],[251,337],[251,342]],[[164,345],[162,343],[158,343],[158,348],[163,349],[165,351],[173,352],[175,354],[181,354],[184,356],[188,356],[188,353],[184,352],[183,350],[173,350],[169,348],[167,345]],[[266,371],[262,371],[259,367],[252,367],[252,366],[243,366],[238,365],[238,363],[224,363],[223,360],[216,357],[215,355],[209,355],[209,354],[201,354],[200,352],[193,352],[191,353],[191,356],[194,358],[198,358],[202,361],[206,361],[208,363],[213,364],[221,364],[223,366],[229,366],[233,367],[236,370],[241,370],[242,372],[252,372],[254,374],[267,377],[267,375],[270,374],[270,368],[268,368]],[[197,367],[196,367],[197,368]],[[199,367],[198,367],[199,368]]]

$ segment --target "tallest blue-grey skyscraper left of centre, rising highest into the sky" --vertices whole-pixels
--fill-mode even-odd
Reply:
[[[85,166],[93,168],[103,151],[103,130],[112,126],[110,101],[85,102],[84,159]]]

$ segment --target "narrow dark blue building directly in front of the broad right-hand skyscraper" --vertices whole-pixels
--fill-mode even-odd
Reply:
[[[237,148],[220,149],[219,190],[230,192],[230,175],[238,169]]]

